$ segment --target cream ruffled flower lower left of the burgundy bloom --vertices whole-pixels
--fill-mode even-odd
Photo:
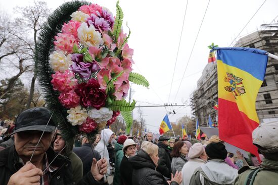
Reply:
[[[82,125],[88,117],[86,109],[82,109],[80,105],[74,108],[70,108],[69,110],[67,110],[67,113],[69,114],[67,116],[67,119],[72,126]]]

